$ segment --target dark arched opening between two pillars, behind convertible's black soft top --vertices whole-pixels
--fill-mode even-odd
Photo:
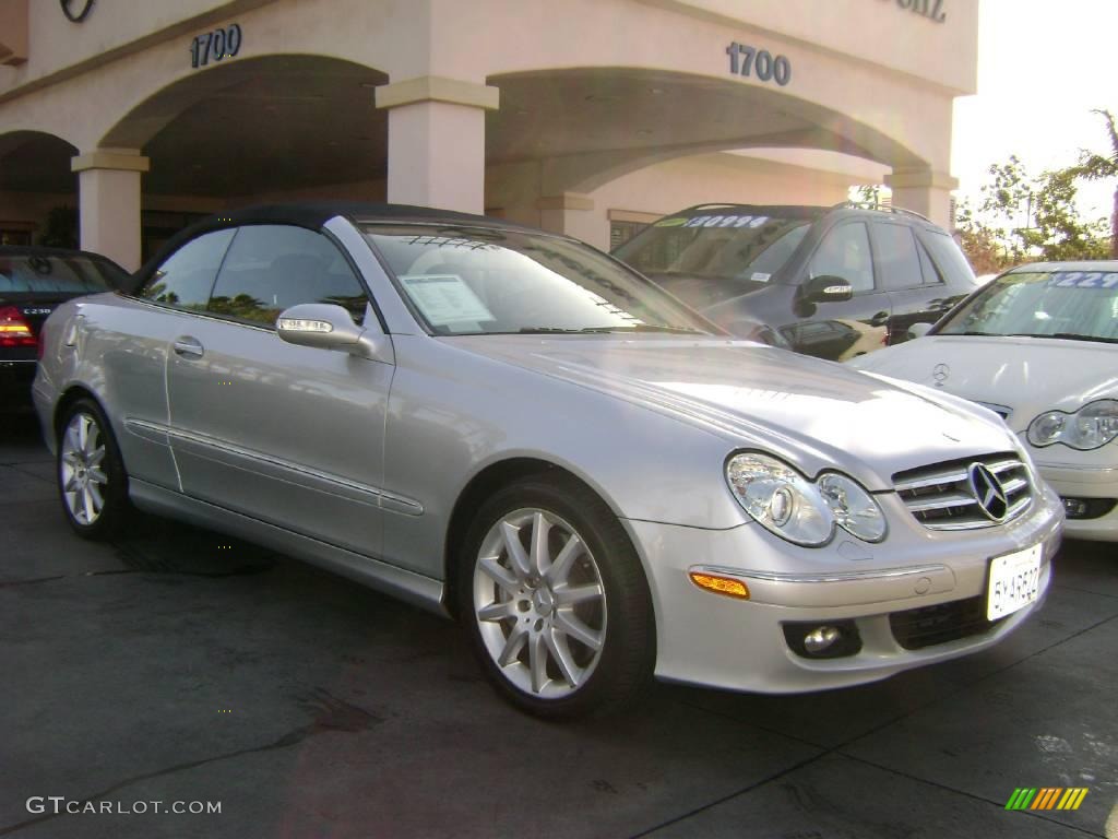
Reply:
[[[133,107],[100,142],[149,158],[143,256],[197,217],[265,200],[379,200],[387,75],[313,55],[231,60],[179,79]]]

